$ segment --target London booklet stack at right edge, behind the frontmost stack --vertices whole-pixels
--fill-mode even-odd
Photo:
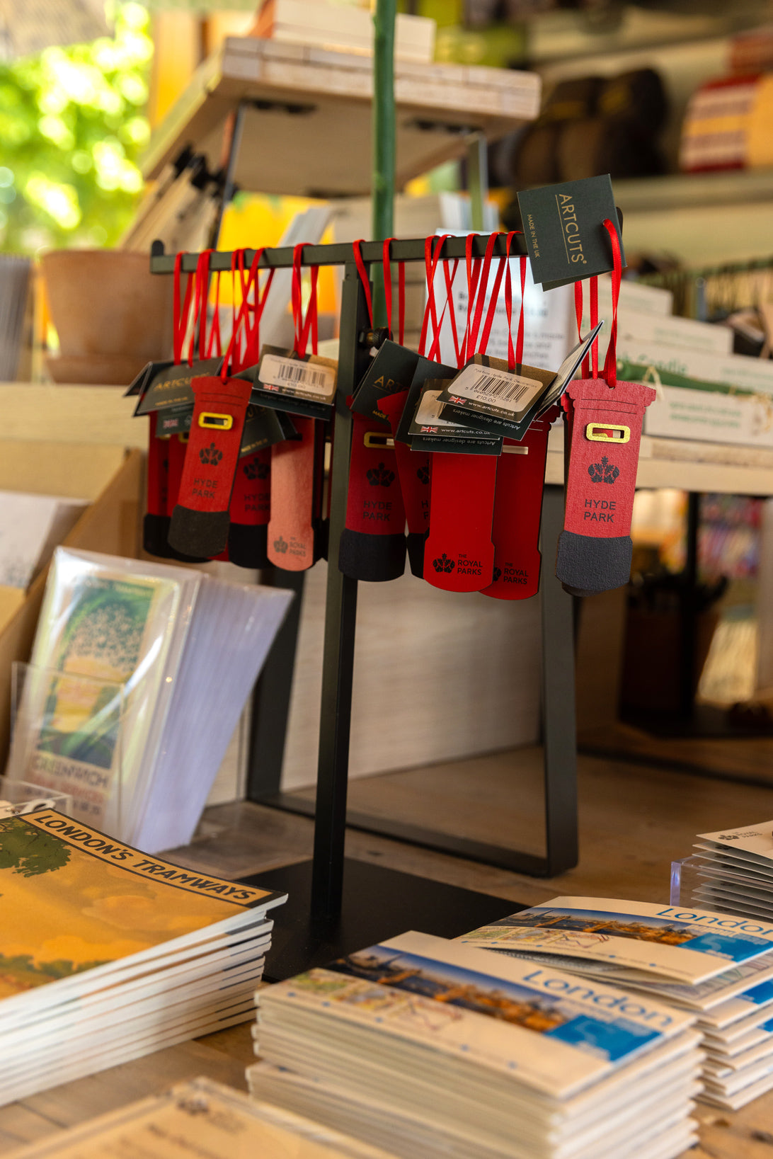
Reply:
[[[556,897],[459,939],[694,1012],[705,1102],[773,1087],[773,926],[692,906]]]

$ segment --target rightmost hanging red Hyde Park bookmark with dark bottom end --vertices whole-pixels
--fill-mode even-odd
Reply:
[[[608,591],[630,575],[630,517],[644,410],[656,392],[637,382],[570,382],[569,469],[555,574],[575,595]]]

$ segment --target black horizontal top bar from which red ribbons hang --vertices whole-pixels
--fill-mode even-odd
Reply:
[[[480,233],[475,234],[473,238],[473,257],[483,257],[486,254],[486,243],[489,240],[490,234]],[[506,254],[506,233],[501,233],[494,246],[494,256],[504,257]],[[465,242],[466,238],[446,238],[443,242],[443,249],[440,252],[443,257],[446,258],[461,258],[465,257]],[[260,269],[290,269],[292,267],[292,246],[283,246],[279,249],[264,249],[261,261],[258,263]],[[363,262],[367,265],[370,263],[380,262],[384,253],[384,242],[381,241],[365,241],[362,246]],[[526,254],[526,239],[522,233],[517,233],[512,239],[510,246],[510,256],[518,257],[522,254]],[[424,239],[423,238],[406,238],[398,239],[392,242],[389,255],[393,262],[423,262],[424,261]],[[227,272],[231,270],[231,253],[226,250],[216,250],[210,258],[210,272],[223,271]],[[245,265],[249,267],[253,257],[255,256],[254,249],[245,250]],[[182,269],[185,274],[194,274],[196,271],[196,263],[198,261],[198,254],[185,254],[182,260]],[[331,246],[304,246],[302,265],[345,265],[347,262],[353,262],[355,255],[351,248],[350,241],[335,242]],[[151,274],[174,274],[175,269],[175,255],[167,254],[163,248],[162,241],[154,241],[151,246]]]

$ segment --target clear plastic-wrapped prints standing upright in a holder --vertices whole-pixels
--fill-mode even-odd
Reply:
[[[148,853],[187,845],[291,599],[57,548],[8,777]]]

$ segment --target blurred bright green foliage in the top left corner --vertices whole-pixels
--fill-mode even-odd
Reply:
[[[0,248],[110,246],[143,188],[153,42],[139,3],[109,6],[112,39],[0,65]]]

